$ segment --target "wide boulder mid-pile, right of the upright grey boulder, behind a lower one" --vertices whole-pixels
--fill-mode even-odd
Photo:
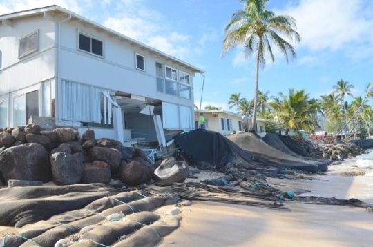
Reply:
[[[122,154],[115,148],[93,147],[88,150],[90,161],[104,161],[110,164],[111,170],[117,170],[120,166]]]

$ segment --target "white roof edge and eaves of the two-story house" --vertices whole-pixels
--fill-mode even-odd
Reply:
[[[152,48],[151,46],[147,46],[146,44],[144,44],[140,41],[132,39],[132,38],[130,38],[130,37],[124,35],[124,34],[121,34],[119,32],[116,32],[115,30],[112,30],[111,28],[107,28],[106,26],[102,26],[101,24],[96,23],[95,21],[91,21],[90,19],[86,19],[85,17],[82,17],[79,14],[71,12],[70,10],[66,10],[65,8],[62,8],[62,7],[57,6],[57,5],[45,6],[45,7],[41,7],[41,8],[34,8],[34,9],[30,9],[30,10],[23,10],[23,11],[19,11],[19,12],[13,12],[13,13],[10,13],[10,14],[3,14],[3,15],[0,15],[0,24],[8,25],[9,23],[11,23],[11,21],[13,19],[19,19],[19,18],[22,18],[22,17],[32,16],[32,15],[36,15],[36,14],[44,14],[44,17],[46,17],[46,15],[48,15],[49,12],[51,12],[52,15],[61,14],[61,13],[62,14],[67,14],[75,20],[84,21],[85,23],[89,23],[94,28],[104,30],[108,34],[111,34],[111,35],[117,37],[118,39],[123,39],[124,41],[128,41],[128,43],[131,43],[132,45],[137,45],[144,50],[148,50],[151,54],[154,54],[157,57],[164,57],[164,59],[170,60],[173,63],[176,63],[180,66],[184,66],[184,67],[188,68],[189,70],[191,70],[195,73],[203,73],[204,72],[204,70],[201,70],[200,68],[192,66],[189,63],[185,63],[184,61],[181,61],[180,59],[177,59],[177,58],[175,58],[171,55],[167,55],[166,53],[161,52],[160,50]]]

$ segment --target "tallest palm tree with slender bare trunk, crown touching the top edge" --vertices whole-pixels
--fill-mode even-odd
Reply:
[[[242,44],[247,57],[256,52],[256,81],[254,92],[254,112],[251,131],[255,131],[256,108],[258,100],[259,66],[265,66],[265,52],[269,53],[274,63],[274,52],[272,44],[275,44],[285,55],[287,61],[289,56],[296,57],[293,46],[280,35],[300,42],[300,35],[296,32],[295,20],[287,15],[275,15],[274,12],[266,10],[265,4],[268,0],[241,0],[245,2],[243,10],[238,10],[231,17],[231,21],[225,28],[224,50],[222,55],[229,50]]]

